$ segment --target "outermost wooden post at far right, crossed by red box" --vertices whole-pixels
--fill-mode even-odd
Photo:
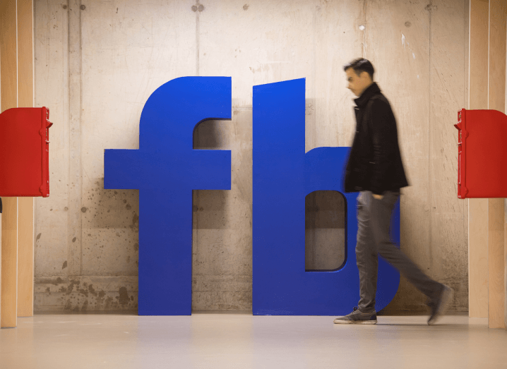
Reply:
[[[505,0],[489,1],[489,102],[488,108],[505,113],[506,27]],[[503,199],[489,199],[488,228],[488,323],[490,328],[505,328]]]

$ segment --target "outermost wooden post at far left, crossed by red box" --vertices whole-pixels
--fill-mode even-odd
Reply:
[[[0,2],[1,109],[18,106],[16,0]],[[0,327],[16,327],[18,303],[18,198],[2,198]]]

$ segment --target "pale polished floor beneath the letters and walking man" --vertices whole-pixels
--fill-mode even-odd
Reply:
[[[0,368],[507,368],[507,331],[463,315],[426,320],[35,315],[0,330]]]

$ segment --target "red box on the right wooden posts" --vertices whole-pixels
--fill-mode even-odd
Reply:
[[[507,198],[507,116],[458,111],[458,198]]]

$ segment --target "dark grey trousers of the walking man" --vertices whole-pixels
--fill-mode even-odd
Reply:
[[[417,265],[393,245],[389,237],[390,217],[400,193],[386,191],[376,200],[370,191],[357,197],[356,258],[359,269],[359,310],[375,311],[378,255],[400,271],[429,301],[437,301],[443,285],[429,278]]]

